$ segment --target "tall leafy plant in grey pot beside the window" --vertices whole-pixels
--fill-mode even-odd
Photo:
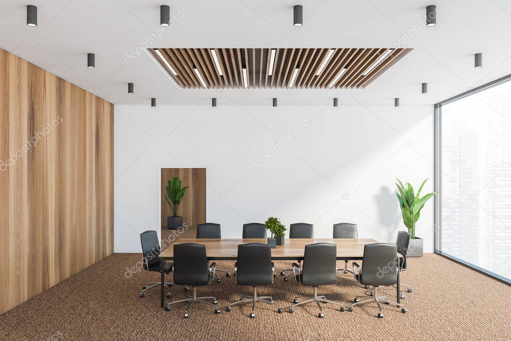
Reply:
[[[413,193],[412,185],[406,183],[406,185],[403,186],[403,183],[399,179],[397,180],[399,185],[396,184],[396,186],[398,186],[399,193],[396,193],[396,195],[398,196],[399,206],[401,207],[403,222],[410,234],[410,243],[408,244],[406,256],[422,257],[424,241],[422,238],[415,237],[415,223],[419,220],[421,210],[426,201],[435,196],[438,192],[428,193],[420,198],[419,195],[421,194],[422,188],[428,179],[423,181],[419,191],[417,191],[417,194]]]

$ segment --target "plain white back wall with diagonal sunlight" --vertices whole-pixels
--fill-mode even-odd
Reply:
[[[115,105],[115,252],[140,252],[139,234],[159,233],[162,167],[206,168],[207,221],[221,223],[225,238],[276,216],[314,223],[318,238],[354,222],[359,237],[394,241],[406,230],[395,178],[416,189],[429,177],[423,193],[433,189],[430,105],[205,103]],[[426,252],[432,226],[430,201],[416,232]]]

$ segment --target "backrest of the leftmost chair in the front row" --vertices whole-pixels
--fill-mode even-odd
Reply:
[[[209,281],[206,246],[196,243],[174,244],[174,283],[206,285]]]

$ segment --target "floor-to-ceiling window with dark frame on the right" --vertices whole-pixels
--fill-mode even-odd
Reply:
[[[511,281],[511,81],[435,106],[436,250]]]

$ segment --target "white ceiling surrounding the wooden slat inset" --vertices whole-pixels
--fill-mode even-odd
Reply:
[[[25,1],[0,3],[0,47],[49,70],[114,104],[199,104],[217,97],[222,104],[329,103],[434,104],[469,88],[511,74],[511,2],[437,0],[435,27],[421,26],[429,1],[401,0],[196,0],[172,1],[180,19],[150,47],[190,48],[383,48],[404,38],[414,50],[361,90],[180,89],[142,52],[126,63],[151,34],[157,34],[155,0],[30,0],[38,26],[26,25]],[[304,26],[293,26],[292,6],[304,6]],[[179,12],[181,12],[179,14]],[[424,21],[422,22],[424,23]],[[87,69],[86,53],[96,53]],[[483,67],[474,68],[474,53]],[[127,94],[135,83],[135,95]],[[421,94],[428,82],[429,93]]]

